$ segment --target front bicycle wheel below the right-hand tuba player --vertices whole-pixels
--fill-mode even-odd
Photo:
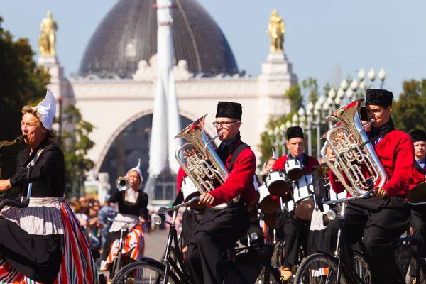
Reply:
[[[337,264],[334,259],[322,253],[314,253],[300,263],[294,284],[334,284],[337,281]],[[347,284],[343,273],[340,284]]]

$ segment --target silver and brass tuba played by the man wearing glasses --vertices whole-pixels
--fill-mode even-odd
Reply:
[[[192,122],[175,136],[175,138],[185,138],[189,141],[176,150],[175,158],[200,193],[214,190],[215,187],[222,185],[229,175],[228,169],[212,146],[212,142],[222,134],[219,133],[212,139],[209,138],[204,129],[206,116],[207,114]],[[182,151],[190,147],[194,151],[189,151],[182,159],[181,157],[184,156]],[[234,202],[238,202],[238,200],[239,197],[234,198]],[[224,203],[214,208],[224,209],[227,206]]]

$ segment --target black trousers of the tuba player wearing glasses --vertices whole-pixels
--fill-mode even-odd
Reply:
[[[249,226],[249,211],[244,206],[206,209],[185,254],[192,283],[222,284],[226,277],[224,252],[247,233]]]

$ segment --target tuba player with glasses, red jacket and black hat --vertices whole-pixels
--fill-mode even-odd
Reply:
[[[250,226],[248,207],[255,200],[256,157],[241,141],[242,107],[235,102],[219,102],[213,125],[222,133],[216,152],[229,170],[225,182],[203,193],[200,202],[207,208],[195,227],[188,244],[185,263],[192,283],[222,283],[225,278],[224,251],[247,233]],[[238,197],[239,201],[234,202]],[[219,204],[225,209],[214,209]]]

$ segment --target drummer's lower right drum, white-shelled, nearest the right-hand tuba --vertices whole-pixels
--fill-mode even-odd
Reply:
[[[293,202],[288,202],[294,206],[295,216],[302,220],[312,219],[312,212],[315,209],[314,187],[312,186],[312,175],[302,175],[302,178],[293,183]]]

